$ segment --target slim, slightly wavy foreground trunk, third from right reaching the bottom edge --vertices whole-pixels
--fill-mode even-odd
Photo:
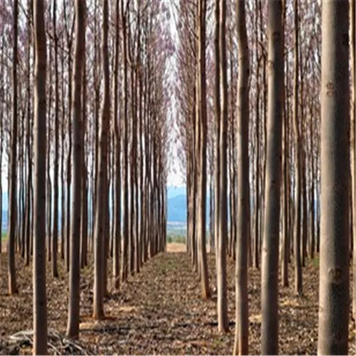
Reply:
[[[236,329],[234,355],[248,354],[248,232],[250,224],[249,164],[248,164],[248,76],[249,53],[246,31],[245,1],[237,1],[236,27],[239,53],[237,94],[239,191],[237,197],[236,231]]]

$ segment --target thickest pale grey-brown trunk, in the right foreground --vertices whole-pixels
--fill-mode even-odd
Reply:
[[[322,6],[319,355],[346,355],[349,325],[349,1]]]

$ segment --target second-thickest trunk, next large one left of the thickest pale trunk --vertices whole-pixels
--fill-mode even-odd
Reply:
[[[261,352],[278,354],[278,249],[281,209],[282,1],[268,0],[268,117],[261,281]]]

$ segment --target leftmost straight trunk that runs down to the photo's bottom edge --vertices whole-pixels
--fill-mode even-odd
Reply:
[[[44,1],[33,1],[35,62],[33,207],[33,355],[47,353],[46,297],[46,30]]]

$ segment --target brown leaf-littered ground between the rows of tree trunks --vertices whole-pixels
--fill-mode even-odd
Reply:
[[[53,335],[66,332],[68,276],[60,263],[60,278],[48,271],[48,328]],[[32,267],[17,261],[20,293],[7,295],[6,255],[0,261],[0,354],[30,354],[28,342],[11,344],[10,336],[32,328]],[[106,320],[91,318],[93,268],[84,268],[80,278],[80,348],[54,345],[51,353],[88,352],[99,355],[231,355],[234,345],[234,261],[227,263],[230,332],[221,334],[216,326],[215,258],[209,254],[211,300],[201,299],[200,283],[184,245],[169,244],[161,253],[130,276],[119,292],[109,286],[105,300]],[[109,273],[111,266],[109,264]],[[318,259],[307,260],[303,269],[303,298],[293,293],[293,267],[290,287],[280,288],[279,352],[284,355],[317,353],[318,339]],[[261,274],[250,269],[248,282],[250,354],[261,354]],[[352,283],[351,283],[352,286]],[[54,333],[52,330],[56,330]],[[59,339],[58,339],[59,340]],[[63,340],[63,339],[62,339]],[[26,341],[26,340],[25,340]],[[67,345],[65,348],[63,345]],[[349,354],[355,355],[355,323],[350,320]],[[59,347],[63,348],[59,348]]]

